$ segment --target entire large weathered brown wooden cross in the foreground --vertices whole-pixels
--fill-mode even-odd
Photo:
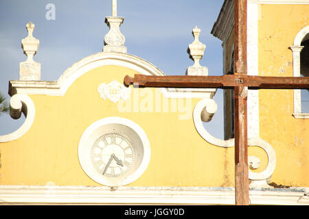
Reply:
[[[146,76],[126,75],[124,85],[141,88],[222,88],[234,90],[235,196],[236,205],[249,205],[247,138],[248,89],[308,89],[309,77],[261,77],[247,75],[247,0],[235,1],[234,75]]]

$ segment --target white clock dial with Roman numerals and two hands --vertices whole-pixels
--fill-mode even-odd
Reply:
[[[121,133],[106,133],[91,147],[91,162],[106,177],[126,175],[137,161],[132,142]]]

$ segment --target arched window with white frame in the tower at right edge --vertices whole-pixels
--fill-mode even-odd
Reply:
[[[309,77],[309,26],[298,32],[290,49],[293,51],[293,76]],[[309,90],[294,90],[293,116],[309,118]]]

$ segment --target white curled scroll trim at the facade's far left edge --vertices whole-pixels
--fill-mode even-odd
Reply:
[[[16,131],[0,136],[0,142],[10,142],[21,138],[32,126],[36,110],[32,99],[26,94],[15,94],[10,99],[10,114],[12,118],[20,118],[21,112],[25,115],[25,122]]]

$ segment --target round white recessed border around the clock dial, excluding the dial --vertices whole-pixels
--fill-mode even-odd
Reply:
[[[137,149],[139,150],[139,163],[130,175],[124,177],[106,177],[100,174],[95,168],[90,159],[91,148],[100,136],[106,133],[113,133],[113,128],[122,129],[124,134],[130,140],[137,142]],[[102,133],[103,132],[103,133]],[[117,131],[116,131],[117,133]],[[125,134],[126,133],[126,134]],[[150,162],[150,142],[146,133],[137,123],[127,118],[122,117],[106,117],[95,123],[92,123],[82,133],[80,142],[78,144],[78,159],[82,170],[94,181],[106,186],[122,186],[132,183],[138,179],[148,167]]]

